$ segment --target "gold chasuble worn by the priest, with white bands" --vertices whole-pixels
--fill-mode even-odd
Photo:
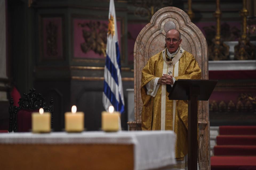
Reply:
[[[187,155],[188,105],[185,100],[169,100],[166,85],[160,84],[155,97],[147,95],[146,84],[163,74],[178,79],[200,79],[201,69],[192,54],[179,47],[171,61],[166,61],[167,49],[151,57],[142,70],[141,114],[142,130],[174,130],[177,135],[175,157],[183,160]]]

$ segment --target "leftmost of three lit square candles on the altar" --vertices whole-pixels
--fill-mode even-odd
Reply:
[[[34,133],[47,133],[51,131],[51,113],[43,113],[43,108],[32,113],[32,131]]]

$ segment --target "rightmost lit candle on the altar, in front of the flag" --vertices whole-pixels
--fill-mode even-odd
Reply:
[[[114,112],[114,107],[109,107],[109,112],[101,113],[101,128],[104,131],[118,131],[121,129],[120,113]]]

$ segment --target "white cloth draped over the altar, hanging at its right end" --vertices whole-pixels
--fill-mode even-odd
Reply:
[[[0,134],[0,144],[133,144],[134,169],[157,169],[173,165],[175,134],[173,131],[102,131],[49,134]]]

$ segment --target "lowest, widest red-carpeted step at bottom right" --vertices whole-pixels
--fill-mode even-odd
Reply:
[[[256,156],[212,156],[211,170],[256,169]]]

